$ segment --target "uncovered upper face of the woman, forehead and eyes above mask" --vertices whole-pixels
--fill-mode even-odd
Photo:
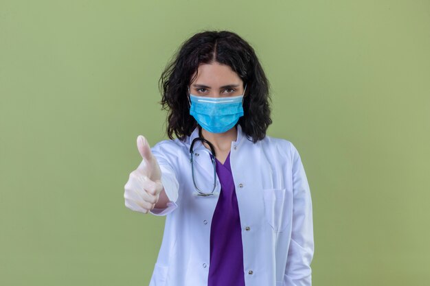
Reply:
[[[197,71],[197,77],[190,83],[190,93],[192,95],[204,97],[243,95],[242,80],[226,64],[220,64],[219,62],[201,64]]]

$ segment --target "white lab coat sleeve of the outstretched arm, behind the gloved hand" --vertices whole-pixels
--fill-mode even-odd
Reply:
[[[150,213],[152,215],[168,215],[177,208],[179,183],[174,172],[173,164],[168,160],[168,152],[163,147],[163,143],[158,143],[151,148],[152,154],[157,158],[158,165],[161,169],[161,184],[163,184],[164,191],[169,198],[170,202],[167,203],[166,208],[153,208]],[[166,146],[168,148],[170,146]]]

